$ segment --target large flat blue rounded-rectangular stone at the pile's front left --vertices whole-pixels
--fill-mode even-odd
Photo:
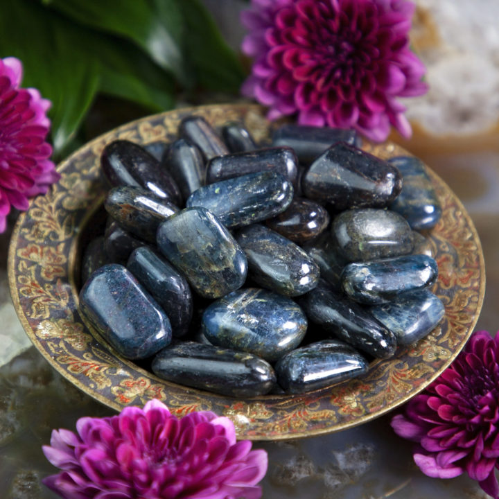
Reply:
[[[130,359],[141,359],[171,340],[168,317],[122,265],[104,265],[80,291],[80,310],[98,333]]]

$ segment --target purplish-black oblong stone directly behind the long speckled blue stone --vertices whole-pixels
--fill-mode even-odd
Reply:
[[[290,148],[267,148],[214,158],[207,164],[207,184],[268,170],[284,175],[295,186],[298,175],[295,152]]]

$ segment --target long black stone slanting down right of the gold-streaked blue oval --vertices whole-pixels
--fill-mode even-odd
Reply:
[[[393,333],[362,306],[334,291],[324,281],[300,297],[299,304],[311,322],[352,347],[376,358],[391,357],[395,353]]]

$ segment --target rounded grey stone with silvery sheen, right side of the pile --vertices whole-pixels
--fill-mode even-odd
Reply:
[[[332,232],[340,253],[348,261],[402,256],[414,248],[408,222],[389,210],[343,211],[333,220]]]

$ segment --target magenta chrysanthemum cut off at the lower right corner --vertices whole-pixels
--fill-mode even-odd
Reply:
[[[395,432],[417,441],[423,473],[453,478],[466,471],[498,499],[499,334],[473,333],[464,351],[426,392],[392,419]]]

